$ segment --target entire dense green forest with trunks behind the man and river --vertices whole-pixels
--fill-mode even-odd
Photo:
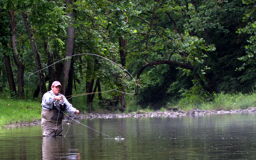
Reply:
[[[235,102],[252,95],[240,108],[256,103],[253,0],[0,6],[1,99],[40,102],[58,80],[61,93],[85,111],[200,108],[230,95]]]

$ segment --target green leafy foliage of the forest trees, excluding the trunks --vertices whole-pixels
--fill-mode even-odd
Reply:
[[[13,9],[17,48],[25,64],[25,79],[37,69],[31,58],[33,53],[21,11],[29,15],[42,66],[48,66],[46,52],[54,55],[54,62],[64,58],[70,21],[76,32],[75,55],[100,55],[118,64],[94,55],[75,56],[74,75],[80,82],[74,91],[77,94],[86,93],[91,81],[95,87],[96,80],[100,80],[102,91],[134,91],[135,78],[119,66],[120,50],[124,49],[119,46],[120,37],[127,40],[126,66],[122,67],[134,77],[143,65],[151,62],[175,62],[176,65],[158,64],[143,70],[136,100],[126,98],[126,106],[132,111],[147,108],[148,104],[159,109],[181,98],[180,105],[189,109],[199,104],[198,99],[206,91],[210,94],[214,91],[248,93],[255,82],[256,19],[252,0],[167,0],[161,3],[153,0],[88,0],[75,1],[72,6],[67,6],[64,1],[5,0],[0,4],[3,6],[0,12],[3,25],[0,28],[0,51],[11,55],[13,73],[17,73],[9,44],[8,11]],[[67,17],[70,7],[75,10],[74,19]],[[8,45],[3,47],[4,41]],[[61,70],[61,63],[54,65],[54,69]],[[194,69],[181,68],[180,64]],[[8,73],[4,73],[2,55],[0,65],[0,85],[5,91]],[[44,69],[44,73],[48,75],[48,70]],[[18,81],[16,74],[14,80]],[[25,99],[31,99],[38,85],[37,75],[30,76],[24,83]],[[103,94],[103,101],[118,95],[120,92],[108,92]],[[86,95],[74,97],[73,103],[86,111],[90,108],[86,99]],[[98,108],[102,103],[95,96],[93,108],[105,109],[107,104]]]

